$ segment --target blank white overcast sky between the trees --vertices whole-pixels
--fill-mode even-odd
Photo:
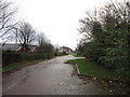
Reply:
[[[75,48],[79,19],[86,11],[101,6],[109,0],[13,0],[18,6],[18,18],[44,32],[53,44]]]

